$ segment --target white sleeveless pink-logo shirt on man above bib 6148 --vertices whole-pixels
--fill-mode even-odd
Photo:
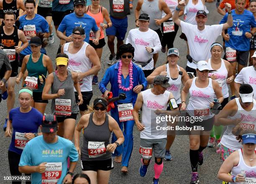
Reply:
[[[141,138],[144,139],[161,139],[167,137],[167,130],[157,130],[156,126],[161,125],[166,127],[166,122],[164,125],[161,123],[156,123],[156,114],[154,111],[156,109],[166,110],[167,103],[169,101],[170,92],[167,90],[164,94],[154,95],[151,89],[147,89],[141,92],[143,97],[142,105],[142,116],[141,123],[145,125],[145,129],[141,131]],[[165,116],[165,115],[164,115]]]

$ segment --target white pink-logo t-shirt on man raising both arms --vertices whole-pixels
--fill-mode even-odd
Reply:
[[[200,31],[197,25],[192,25],[180,22],[182,33],[187,36],[187,42],[189,46],[189,55],[195,61],[205,61],[211,58],[210,47],[212,43],[216,41],[218,36],[221,35],[223,24],[205,26],[205,29]],[[196,69],[197,65],[195,63],[190,63],[187,61],[187,66]]]

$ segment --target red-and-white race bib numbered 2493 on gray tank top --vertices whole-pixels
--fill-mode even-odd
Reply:
[[[88,155],[89,158],[97,158],[106,154],[105,142],[88,141]]]

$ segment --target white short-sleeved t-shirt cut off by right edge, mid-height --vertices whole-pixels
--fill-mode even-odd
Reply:
[[[236,76],[236,83],[250,84],[253,88],[253,98],[256,100],[256,70],[253,66],[244,67]]]

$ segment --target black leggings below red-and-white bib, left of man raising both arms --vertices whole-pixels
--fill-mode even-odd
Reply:
[[[169,22],[169,21],[166,21]],[[163,32],[163,37],[162,37],[162,41],[161,41],[161,45],[162,47],[165,47],[167,44],[167,49],[173,48],[173,42],[175,39],[175,36],[179,30],[179,26],[174,23],[174,32],[170,32],[170,33],[164,33],[164,23],[161,24],[161,28],[162,28],[162,32]]]

